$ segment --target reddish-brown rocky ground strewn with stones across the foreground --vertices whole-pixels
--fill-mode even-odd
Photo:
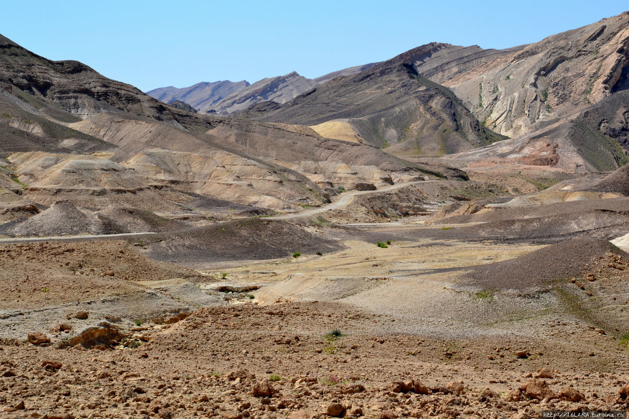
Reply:
[[[400,334],[392,320],[337,303],[238,304],[151,323],[133,349],[5,340],[2,415],[537,418],[628,407],[616,342],[585,354],[552,338]]]

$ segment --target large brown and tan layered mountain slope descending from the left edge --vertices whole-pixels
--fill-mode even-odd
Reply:
[[[284,77],[287,91],[302,79]],[[7,38],[0,38],[0,86],[3,221],[65,199],[90,211],[136,208],[207,222],[319,206],[339,187],[465,179],[442,164],[415,164],[303,126],[168,106]]]

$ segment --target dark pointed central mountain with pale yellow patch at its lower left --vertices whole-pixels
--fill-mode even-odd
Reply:
[[[362,142],[398,155],[450,154],[504,138],[481,126],[447,88],[418,74],[406,55],[330,79],[288,103],[259,103],[237,116],[314,130],[338,121],[342,137],[328,130],[330,138],[353,131]]]

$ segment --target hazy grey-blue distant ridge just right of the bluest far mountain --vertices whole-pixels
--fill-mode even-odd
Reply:
[[[286,103],[315,86],[316,82],[306,79],[306,77],[296,72],[291,72],[279,77],[257,81],[251,86],[244,87],[225,99],[221,99],[211,104],[211,106],[206,106],[199,110],[227,115],[247,109],[249,106],[263,101]]]

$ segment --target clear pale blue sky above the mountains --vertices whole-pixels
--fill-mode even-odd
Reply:
[[[3,4],[0,33],[148,91],[293,70],[314,78],[428,42],[507,48],[629,9],[602,1],[140,1]]]

